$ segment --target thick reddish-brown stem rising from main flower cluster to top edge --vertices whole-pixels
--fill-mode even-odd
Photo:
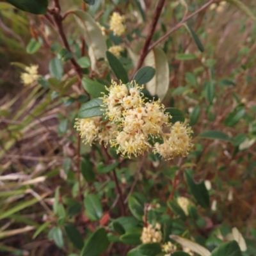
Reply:
[[[142,66],[143,61],[145,60],[145,58],[148,54],[148,46],[150,45],[150,42],[151,42],[152,37],[154,35],[154,31],[156,30],[156,25],[157,25],[157,22],[159,20],[160,14],[163,10],[164,2],[165,2],[165,0],[159,0],[159,2],[157,3],[155,15],[154,15],[154,18],[152,20],[152,24],[150,26],[150,31],[147,35],[146,40],[145,40],[145,44],[143,45],[143,49],[142,49],[142,52],[141,52],[141,55],[140,55],[140,60],[138,61],[138,64],[137,64],[136,68],[134,69],[132,77],[134,77],[134,75],[136,74],[138,69]]]

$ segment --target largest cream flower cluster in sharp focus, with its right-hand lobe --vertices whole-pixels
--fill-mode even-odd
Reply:
[[[164,113],[164,106],[157,101],[145,102],[142,87],[135,81],[127,87],[112,81],[108,95],[104,95],[103,102],[106,116],[118,126],[116,137],[110,141],[112,147],[123,156],[131,157],[143,154],[149,148],[162,157],[172,159],[174,156],[186,156],[191,149],[191,129],[176,122],[172,126],[168,123],[172,116]],[[168,127],[169,133],[163,132]],[[152,138],[163,138],[164,142],[150,144]]]

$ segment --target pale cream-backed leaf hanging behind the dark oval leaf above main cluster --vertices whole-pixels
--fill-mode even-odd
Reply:
[[[155,47],[148,52],[144,63],[156,70],[155,76],[146,84],[147,90],[151,95],[157,95],[160,100],[163,100],[169,88],[170,76],[166,54],[161,48]]]

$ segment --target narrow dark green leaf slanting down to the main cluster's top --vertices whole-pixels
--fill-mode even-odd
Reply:
[[[118,60],[118,58],[116,58],[114,54],[112,54],[109,51],[106,52],[106,56],[108,59],[109,66],[114,72],[116,78],[118,78],[118,80],[121,80],[122,83],[127,84],[129,82],[129,78],[122,63]]]

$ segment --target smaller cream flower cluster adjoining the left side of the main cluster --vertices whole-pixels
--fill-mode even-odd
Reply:
[[[115,137],[114,132],[117,127],[115,124],[110,124],[108,121],[103,121],[101,116],[93,118],[76,118],[74,127],[79,131],[79,135],[84,143],[92,145],[93,142],[99,141],[107,145],[109,140]]]

